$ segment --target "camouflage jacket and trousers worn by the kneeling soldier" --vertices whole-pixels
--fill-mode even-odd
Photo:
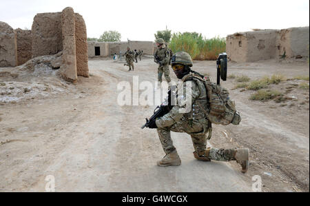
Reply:
[[[183,79],[190,78],[194,74],[187,74]],[[186,132],[192,137],[194,150],[199,156],[206,155],[207,158],[214,161],[235,161],[234,150],[224,150],[216,148],[207,149],[207,140],[211,138],[211,123],[207,120],[204,110],[207,110],[207,92],[205,85],[201,81],[191,81],[192,85],[189,88],[192,90],[192,95],[186,99],[186,83],[183,84],[183,95],[178,95],[176,105],[172,110],[156,120],[158,127],[157,132],[161,145],[165,154],[169,154],[176,150],[174,147],[170,131]],[[192,102],[191,111],[188,113],[180,113],[180,109],[185,109],[185,106]],[[200,107],[200,105],[203,107]],[[209,133],[209,136],[207,134]],[[207,151],[207,154],[206,154]]]

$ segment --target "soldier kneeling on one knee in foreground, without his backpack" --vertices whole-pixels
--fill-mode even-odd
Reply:
[[[177,52],[172,56],[172,69],[181,83],[177,91],[176,105],[168,114],[150,122],[148,126],[151,129],[157,129],[166,154],[157,165],[160,167],[181,165],[180,156],[176,152],[170,132],[186,132],[192,137],[194,158],[198,161],[237,161],[242,167],[241,172],[247,172],[248,149],[207,148],[207,140],[211,138],[212,130],[211,121],[207,118],[205,111],[210,110],[208,95],[211,94],[208,94],[203,79],[201,77],[199,79],[195,76],[196,74],[192,73],[192,66],[192,58],[186,52]],[[187,108],[188,105],[191,106]],[[235,113],[231,123],[238,125],[240,121],[239,114]]]

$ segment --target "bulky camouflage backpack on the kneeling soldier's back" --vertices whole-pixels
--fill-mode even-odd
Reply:
[[[189,79],[194,81],[203,81],[203,83],[205,83],[208,97],[208,109],[204,112],[207,116],[207,119],[211,121],[211,123],[220,125],[240,124],[240,113],[236,110],[235,102],[231,101],[228,90],[220,85],[217,85],[216,83],[209,81],[209,79],[203,79],[196,74],[189,76]],[[185,79],[185,81],[188,81],[189,79]],[[197,103],[200,104],[199,102]],[[203,105],[200,105],[200,107],[202,109],[205,108]]]

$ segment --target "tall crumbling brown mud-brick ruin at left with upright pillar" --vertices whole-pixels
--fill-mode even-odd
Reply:
[[[87,32],[83,17],[70,7],[34,17],[32,30],[13,30],[0,22],[0,67],[16,66],[37,56],[61,54],[63,79],[89,76]]]

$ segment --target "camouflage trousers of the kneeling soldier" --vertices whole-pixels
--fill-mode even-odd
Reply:
[[[206,121],[206,122],[203,122]],[[203,121],[180,121],[171,127],[158,128],[158,136],[165,154],[169,154],[176,150],[171,138],[170,132],[185,132],[192,137],[194,150],[198,154],[202,154],[207,150],[207,120]],[[234,158],[234,149],[209,149],[209,158],[214,161],[236,161]]]

